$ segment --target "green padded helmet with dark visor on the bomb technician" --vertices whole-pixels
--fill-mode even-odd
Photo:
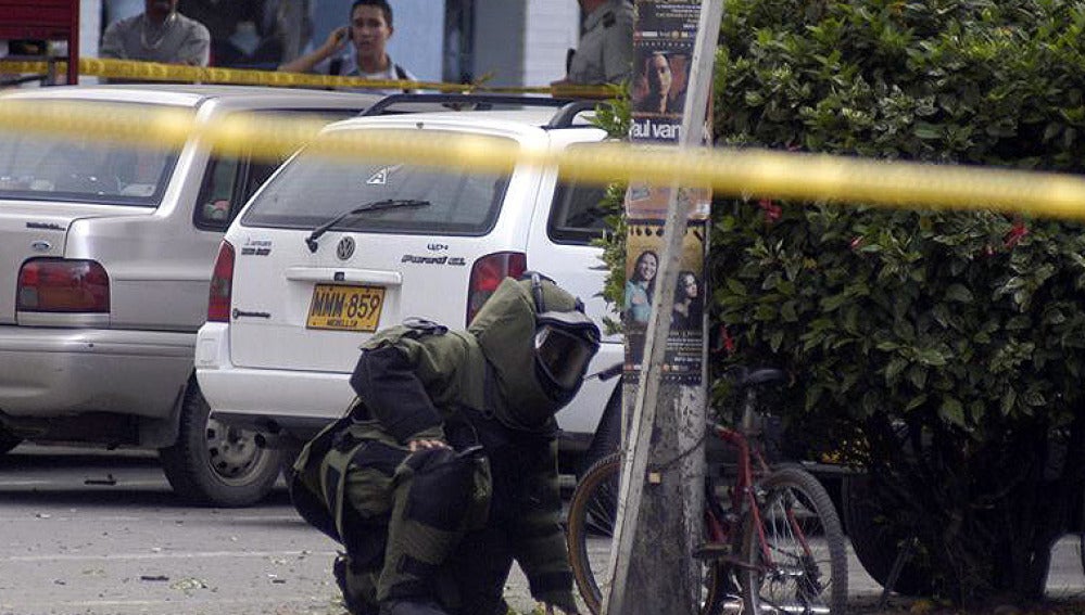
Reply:
[[[494,413],[514,428],[541,428],[568,405],[600,346],[583,303],[533,272],[506,278],[468,331],[496,375]]]

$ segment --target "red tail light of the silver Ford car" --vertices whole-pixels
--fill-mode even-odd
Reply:
[[[110,311],[110,277],[93,260],[35,258],[18,270],[17,311]]]

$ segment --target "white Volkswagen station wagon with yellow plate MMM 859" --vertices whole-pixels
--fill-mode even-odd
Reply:
[[[395,99],[449,97],[384,103]],[[515,106],[389,113],[324,132],[487,134],[550,150],[606,138],[584,118],[592,104],[529,99]],[[267,443],[298,446],[345,410],[358,346],[374,331],[409,317],[466,328],[502,279],[529,268],[580,296],[602,329],[605,316],[616,317],[600,296],[607,270],[592,245],[605,229],[603,191],[563,181],[556,168],[331,163],[302,150],[242,210],[218,253],[195,353],[214,417],[255,428]],[[590,372],[621,358],[621,336],[607,336]],[[566,451],[590,445],[608,405],[617,417],[616,384],[589,379],[557,414]]]

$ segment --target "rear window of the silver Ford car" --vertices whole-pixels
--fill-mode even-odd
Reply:
[[[0,130],[0,198],[156,207],[177,151]]]

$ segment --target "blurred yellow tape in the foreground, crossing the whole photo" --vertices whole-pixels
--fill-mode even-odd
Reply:
[[[56,137],[179,146],[191,137],[224,152],[282,156],[310,143],[332,159],[409,161],[431,166],[507,170],[514,164],[557,166],[565,177],[710,185],[717,193],[830,200],[893,207],[1024,212],[1085,220],[1085,179],[920,163],[761,150],[679,150],[621,142],[554,151],[510,139],[421,130],[339,130],[313,141],[324,123],[235,115],[199,121],[187,111],[136,105],[47,104],[12,98],[0,104],[0,129]]]

